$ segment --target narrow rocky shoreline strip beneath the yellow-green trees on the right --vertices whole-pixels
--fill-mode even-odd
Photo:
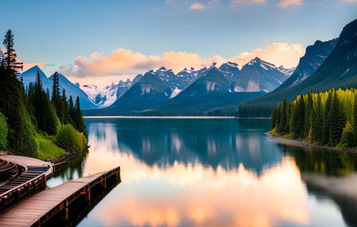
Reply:
[[[301,139],[289,139],[289,138],[285,138],[283,136],[273,135],[270,133],[270,131],[266,132],[264,134],[271,138],[279,140],[285,144],[296,145],[296,146],[301,146],[301,147],[311,147],[311,148],[316,148],[316,149],[334,150],[335,152],[347,152],[347,153],[357,154],[357,150],[352,149],[352,148],[338,148],[338,147],[331,147],[331,146],[326,146],[326,145],[325,146],[313,145],[313,144],[311,144],[307,141],[301,140]]]

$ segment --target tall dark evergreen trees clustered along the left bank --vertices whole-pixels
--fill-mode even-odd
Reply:
[[[6,52],[0,49],[0,149],[12,150],[15,154],[36,157],[39,150],[37,134],[53,136],[60,147],[61,135],[75,135],[66,138],[67,142],[77,141],[77,147],[66,147],[72,151],[80,147],[78,141],[86,142],[88,133],[82,118],[80,100],[73,97],[67,100],[65,90],[59,92],[58,73],[53,79],[53,92],[44,90],[40,72],[36,80],[24,87],[19,70],[23,63],[17,61],[14,46],[14,35],[8,30],[3,42]],[[63,127],[70,125],[68,127]],[[63,130],[76,133],[60,133]],[[62,140],[61,140],[62,139]]]

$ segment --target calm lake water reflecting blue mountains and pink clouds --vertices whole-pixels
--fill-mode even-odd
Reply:
[[[270,120],[85,121],[89,153],[48,185],[122,182],[78,226],[357,226],[357,156],[278,142]]]

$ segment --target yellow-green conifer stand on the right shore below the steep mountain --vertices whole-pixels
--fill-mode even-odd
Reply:
[[[357,89],[286,98],[272,112],[272,133],[342,148],[357,146]]]

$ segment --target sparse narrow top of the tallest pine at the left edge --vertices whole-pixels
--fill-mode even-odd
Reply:
[[[23,63],[17,62],[16,60],[17,55],[14,50],[14,35],[12,34],[10,29],[6,32],[3,45],[6,48],[6,52],[3,57],[4,66],[8,71],[10,71],[11,75],[13,75],[14,77],[18,77],[18,70],[22,70]]]

